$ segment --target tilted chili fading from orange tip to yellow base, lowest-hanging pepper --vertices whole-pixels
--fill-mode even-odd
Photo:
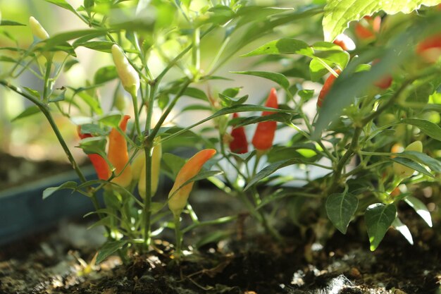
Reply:
[[[180,169],[178,176],[176,176],[175,184],[168,193],[168,208],[175,216],[178,216],[185,205],[187,205],[188,196],[192,192],[193,184],[188,183],[181,187],[187,180],[190,180],[201,171],[202,166],[216,154],[215,149],[203,149],[197,154],[194,154],[184,166]]]

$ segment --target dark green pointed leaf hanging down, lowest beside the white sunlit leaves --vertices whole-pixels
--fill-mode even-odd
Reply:
[[[369,205],[364,214],[364,220],[368,229],[371,251],[377,249],[383,240],[387,229],[392,225],[397,217],[397,207],[395,204],[375,203]]]

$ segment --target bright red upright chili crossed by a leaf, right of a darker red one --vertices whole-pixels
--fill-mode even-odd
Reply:
[[[268,99],[265,103],[266,107],[278,108],[277,92],[275,88],[271,89]],[[262,116],[268,116],[275,114],[274,111],[263,111]],[[257,150],[268,150],[273,146],[273,140],[275,135],[275,129],[277,128],[277,122],[275,121],[262,121],[257,124],[256,132],[252,140],[254,148]]]

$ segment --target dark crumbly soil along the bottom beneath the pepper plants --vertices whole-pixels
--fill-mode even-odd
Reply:
[[[173,245],[156,240],[148,255],[127,264],[113,256],[99,266],[102,229],[86,228],[65,222],[0,248],[0,293],[441,293],[439,226],[421,226],[413,246],[390,231],[375,252],[351,230],[324,247],[299,231],[285,232],[284,244],[245,234],[192,250],[179,264],[170,259]]]

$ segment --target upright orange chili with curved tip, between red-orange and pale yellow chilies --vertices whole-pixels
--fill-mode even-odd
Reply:
[[[123,120],[120,122],[120,129],[125,132],[127,128],[127,122],[130,116],[124,116]],[[130,185],[132,181],[132,170],[130,168],[129,154],[127,148],[127,141],[125,137],[121,135],[116,128],[111,130],[110,135],[108,135],[108,161],[111,162],[113,167],[115,167],[116,178],[113,178],[113,183],[118,183],[123,187]],[[127,165],[127,166],[126,166]],[[122,173],[121,173],[122,172]]]

